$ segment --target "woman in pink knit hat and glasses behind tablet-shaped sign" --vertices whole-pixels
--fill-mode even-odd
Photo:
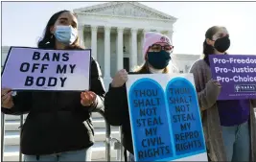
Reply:
[[[135,74],[161,74],[169,73],[174,46],[169,37],[158,33],[147,33],[143,45],[145,63],[135,70]],[[172,69],[175,72],[175,68]],[[112,126],[122,126],[124,134],[124,147],[128,150],[129,161],[134,161],[131,129],[128,114],[128,97],[126,81],[128,72],[123,69],[117,72],[109,85],[105,95],[105,115],[107,122]],[[126,160],[127,154],[125,153]]]

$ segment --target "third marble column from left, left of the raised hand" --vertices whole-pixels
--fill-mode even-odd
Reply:
[[[105,26],[105,79],[110,79],[110,30]]]

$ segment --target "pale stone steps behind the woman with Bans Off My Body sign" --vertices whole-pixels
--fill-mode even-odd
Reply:
[[[23,115],[25,122],[27,115]],[[5,115],[4,161],[18,161],[20,116]],[[92,161],[105,161],[105,120],[99,113],[92,113],[95,144],[92,147]],[[111,127],[111,137],[120,140],[119,127]],[[111,160],[116,160],[116,150],[111,147]]]

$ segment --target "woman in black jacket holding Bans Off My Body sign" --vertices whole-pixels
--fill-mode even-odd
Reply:
[[[38,49],[82,50],[78,20],[72,12],[55,13]],[[91,58],[90,90],[19,91],[2,89],[2,112],[29,115],[21,133],[25,161],[90,161],[94,130],[91,112],[104,108],[105,87],[98,62]]]

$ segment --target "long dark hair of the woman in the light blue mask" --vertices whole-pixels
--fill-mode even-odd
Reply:
[[[49,19],[49,21],[48,21],[48,23],[45,27],[45,34],[42,37],[42,39],[39,40],[38,43],[37,43],[38,48],[42,48],[42,49],[45,49],[45,48],[54,49],[55,48],[56,38],[55,38],[55,35],[53,35],[51,33],[50,29],[51,29],[52,26],[55,25],[56,21],[58,20],[59,15],[62,14],[63,12],[70,12],[70,11],[64,10],[64,11],[56,12]],[[74,14],[74,13],[72,13],[72,14]],[[74,43],[72,45],[66,47],[66,49],[83,49],[80,46],[79,42],[80,41],[79,41],[79,36],[78,36],[77,39],[74,41]]]

